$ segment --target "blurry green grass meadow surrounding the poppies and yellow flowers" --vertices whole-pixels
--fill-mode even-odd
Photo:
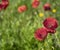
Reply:
[[[1,0],[0,0],[1,1]],[[60,0],[40,0],[37,9],[31,7],[32,0],[9,0],[6,10],[0,11],[0,50],[60,50]],[[44,11],[43,5],[49,2],[52,11]],[[26,4],[28,10],[19,13],[20,5]],[[44,13],[43,17],[39,13]],[[58,28],[53,35],[40,42],[34,38],[34,31],[43,26],[47,17],[58,20]]]

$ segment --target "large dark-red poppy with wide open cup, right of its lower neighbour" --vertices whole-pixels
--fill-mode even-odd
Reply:
[[[44,20],[43,25],[49,30],[55,30],[58,27],[58,22],[55,18],[49,17]]]

